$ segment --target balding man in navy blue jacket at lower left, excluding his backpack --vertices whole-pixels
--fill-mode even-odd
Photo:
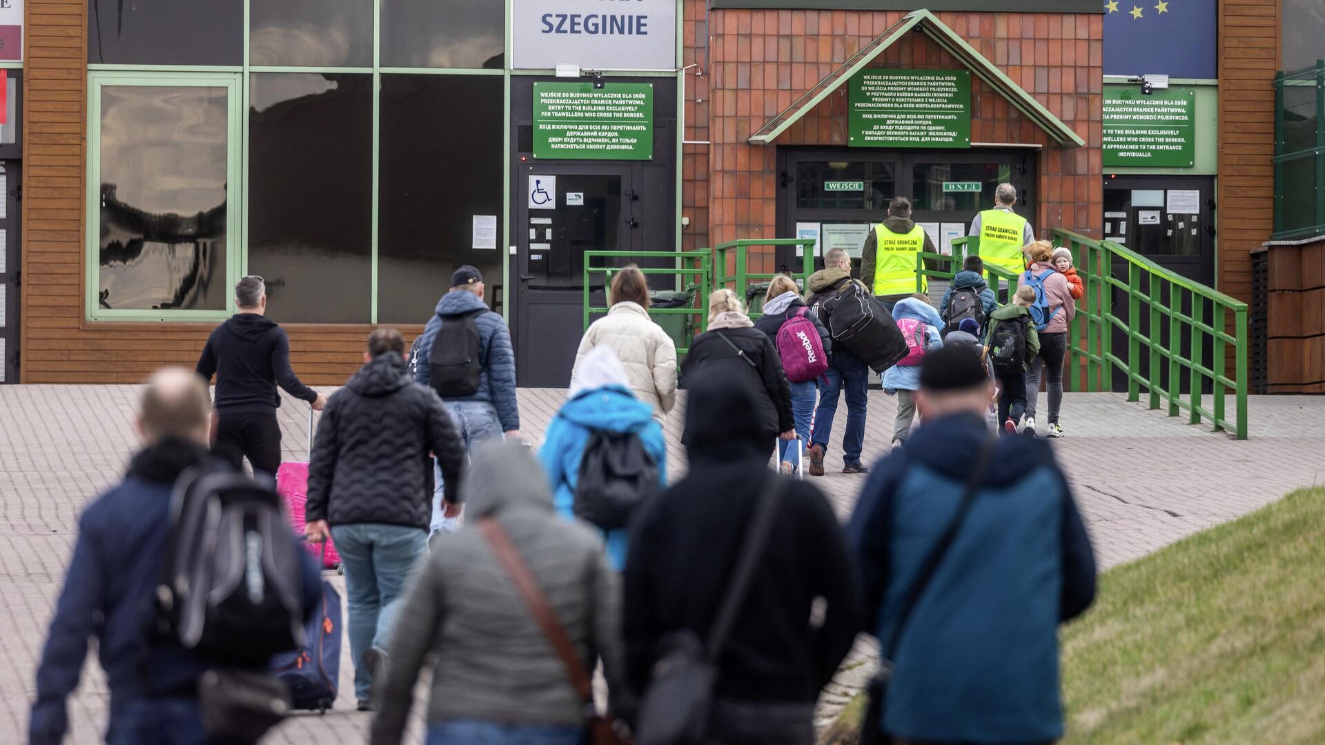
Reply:
[[[110,689],[110,745],[208,742],[196,701],[208,668],[179,643],[150,636],[155,589],[170,537],[175,479],[211,457],[207,384],[183,369],[152,375],[143,394],[138,432],[143,449],[125,480],[97,497],[78,520],[78,540],[65,587],[37,667],[37,700],[28,737],[57,745],[69,730],[66,699],[78,687],[95,638]],[[322,597],[317,566],[305,557],[303,607]]]

